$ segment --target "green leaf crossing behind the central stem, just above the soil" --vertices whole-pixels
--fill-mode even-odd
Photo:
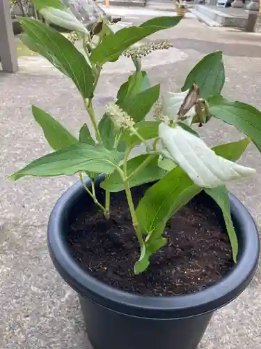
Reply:
[[[138,168],[148,158],[148,156],[150,155],[142,154],[129,160],[127,162],[127,176],[132,174],[132,172],[134,172],[134,170],[136,170],[136,168]],[[152,161],[145,168],[143,168],[141,172],[138,172],[138,174],[130,179],[129,186],[131,188],[133,186],[140,186],[141,184],[157,181],[158,179],[164,177],[166,171],[157,166],[157,160],[158,156],[155,155],[155,157],[152,158]],[[122,191],[125,188],[122,177],[120,177],[118,171],[113,172],[109,177],[107,177],[102,182],[101,187],[112,192]]]

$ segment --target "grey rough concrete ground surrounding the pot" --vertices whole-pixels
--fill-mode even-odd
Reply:
[[[223,50],[223,94],[261,107],[258,34],[211,29],[189,18],[156,37],[169,38],[174,46],[168,53],[157,53],[144,62],[152,83],[161,82],[162,91],[179,89],[200,57]],[[50,151],[31,117],[32,104],[49,111],[75,134],[88,121],[72,82],[40,58],[31,59],[35,61],[20,60],[19,73],[0,75],[0,348],[90,349],[77,295],[54,270],[46,244],[49,213],[59,195],[77,178],[23,179],[15,184],[6,179]],[[104,68],[95,97],[98,117],[131,69],[126,59]],[[209,123],[203,133],[209,144],[239,136],[234,128],[217,121]],[[231,190],[260,225],[260,154],[249,147],[242,162],[256,168],[258,176],[232,185]],[[216,312],[200,349],[260,349],[260,292],[257,274],[238,299]]]

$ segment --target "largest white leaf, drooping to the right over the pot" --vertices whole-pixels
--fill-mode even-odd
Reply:
[[[217,156],[203,140],[180,126],[171,128],[161,123],[159,138],[173,160],[201,188],[215,188],[256,173],[253,168]]]

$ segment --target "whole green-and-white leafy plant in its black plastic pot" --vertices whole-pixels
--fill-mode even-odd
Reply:
[[[181,17],[118,31],[101,19],[86,31],[58,1],[55,8],[42,3],[40,13],[76,29],[84,52],[29,18],[20,20],[22,40],[72,79],[94,133],[84,124],[75,137],[33,106],[54,152],[10,179],[79,174],[54,206],[48,246],[79,294],[93,348],[196,349],[212,313],[246,288],[258,264],[255,223],[226,184],[255,173],[236,161],[250,142],[261,149],[261,114],[221,96],[221,52],[204,57],[181,92],[160,97],[159,84],[150,86],[142,57],[170,44],[140,40]],[[121,54],[132,59],[134,73],[97,123],[93,96],[102,66]],[[150,111],[155,119],[145,119]],[[197,128],[214,127],[214,118],[246,137],[210,149]],[[139,144],[145,151],[132,157]]]

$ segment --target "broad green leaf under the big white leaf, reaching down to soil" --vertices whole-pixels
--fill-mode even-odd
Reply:
[[[168,219],[200,191],[201,188],[177,167],[145,192],[136,209],[141,232],[147,235],[141,258],[134,268],[136,274],[143,272],[148,267],[150,255],[166,244],[161,235]]]

